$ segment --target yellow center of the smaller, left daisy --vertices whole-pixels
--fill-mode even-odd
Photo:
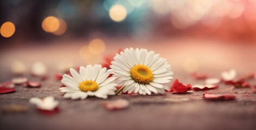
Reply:
[[[96,90],[99,89],[99,85],[95,81],[86,80],[86,81],[82,81],[79,84],[79,89],[82,90],[83,92],[88,92],[88,91],[95,92]]]

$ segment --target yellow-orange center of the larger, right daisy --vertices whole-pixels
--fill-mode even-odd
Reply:
[[[134,66],[130,70],[130,76],[135,82],[138,82],[140,84],[148,84],[153,80],[153,73],[152,70],[142,64],[138,64]]]

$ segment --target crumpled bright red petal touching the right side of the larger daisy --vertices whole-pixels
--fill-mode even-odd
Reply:
[[[172,86],[168,92],[171,92],[172,94],[176,93],[185,93],[187,91],[191,90],[191,85],[184,86],[182,83],[179,82],[178,79],[174,80],[172,83]]]

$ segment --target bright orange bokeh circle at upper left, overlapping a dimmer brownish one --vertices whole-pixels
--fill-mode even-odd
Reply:
[[[59,29],[59,19],[53,16],[46,17],[42,22],[42,29],[46,32],[54,32]]]

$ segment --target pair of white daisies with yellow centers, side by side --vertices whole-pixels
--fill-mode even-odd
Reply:
[[[80,67],[79,73],[70,69],[70,75],[63,75],[62,83],[66,87],[60,88],[65,93],[64,98],[85,99],[97,96],[107,99],[114,95],[117,85],[126,93],[151,95],[164,93],[169,87],[165,84],[173,78],[171,66],[166,59],[159,57],[154,51],[146,49],[125,49],[114,57],[110,70],[101,65]],[[109,77],[109,75],[113,76]],[[118,83],[118,84],[117,84]]]

